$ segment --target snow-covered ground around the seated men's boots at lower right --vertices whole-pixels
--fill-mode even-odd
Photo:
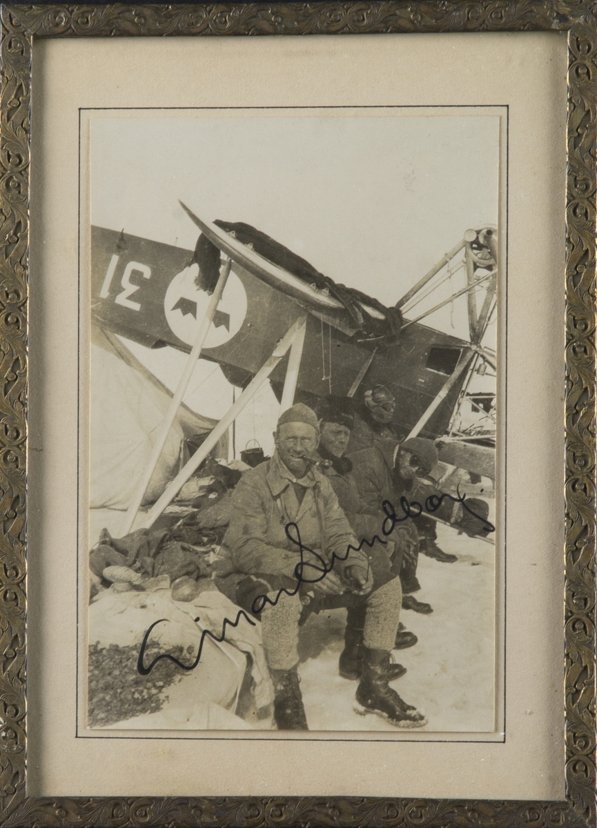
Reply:
[[[419,556],[416,598],[433,614],[402,610],[402,623],[418,643],[395,650],[407,674],[392,687],[426,714],[415,733],[487,733],[495,729],[495,547],[438,525],[438,544],[458,556],[439,563]],[[339,676],[345,610],[311,615],[301,630],[301,691],[310,730],[396,728],[377,715],[354,712],[357,682]]]

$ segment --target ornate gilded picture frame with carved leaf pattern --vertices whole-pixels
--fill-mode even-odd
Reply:
[[[37,38],[561,31],[568,42],[566,190],[566,799],[28,797],[26,795],[27,300],[31,56]],[[6,826],[594,826],[595,211],[597,17],[589,2],[2,5],[2,730]],[[562,223],[563,224],[563,223]],[[562,274],[564,275],[564,274]],[[562,360],[562,368],[564,360]],[[562,371],[562,380],[564,372]],[[564,388],[564,383],[561,383]]]

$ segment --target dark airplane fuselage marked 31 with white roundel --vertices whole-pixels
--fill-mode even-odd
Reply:
[[[305,291],[304,283],[297,286],[291,274],[282,273],[276,282],[271,267],[266,278],[257,267],[263,267],[262,262],[250,250],[236,249],[241,243],[233,242],[229,239],[226,251],[233,258],[232,271],[202,357],[219,363],[227,378],[242,386],[308,310],[297,398],[308,402],[330,393],[347,396],[359,381],[368,388],[385,384],[397,399],[394,426],[400,436],[406,436],[444,387],[468,344],[419,323],[408,325],[399,338],[388,338],[382,344],[359,339],[346,321],[346,311],[329,301],[334,297],[318,295],[308,286]],[[209,294],[195,283],[198,267],[189,267],[193,254],[92,227],[94,322],[149,348],[171,345],[190,351],[209,303]],[[285,370],[283,360],[271,376],[274,391],[282,387]],[[422,436],[445,433],[461,387],[459,382],[450,388]]]

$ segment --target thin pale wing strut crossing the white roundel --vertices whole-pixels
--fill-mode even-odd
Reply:
[[[185,363],[185,369],[181,374],[181,378],[178,381],[178,385],[176,386],[176,391],[172,396],[170,401],[170,407],[166,412],[166,418],[161,423],[160,431],[157,435],[156,442],[153,444],[152,454],[147,462],[147,466],[143,471],[141,478],[139,479],[139,483],[137,484],[137,488],[135,489],[132,495],[131,505],[128,507],[126,517],[124,518],[124,525],[123,525],[123,537],[124,535],[128,535],[128,532],[131,531],[132,524],[135,522],[135,517],[137,517],[137,512],[139,511],[139,507],[141,506],[143,495],[147,490],[147,486],[149,485],[149,481],[152,479],[152,474],[154,469],[156,468],[157,461],[160,459],[161,451],[166,445],[166,440],[168,439],[168,435],[170,434],[170,430],[172,427],[172,423],[176,420],[176,414],[178,413],[178,409],[181,407],[182,397],[185,396],[186,389],[189,386],[190,378],[195,370],[195,365],[197,364],[197,360],[200,358],[201,351],[203,350],[203,346],[205,344],[205,339],[209,332],[209,326],[211,325],[212,321],[214,320],[215,311],[219,305],[219,301],[222,298],[222,294],[224,293],[224,287],[226,286],[226,282],[228,282],[228,277],[230,275],[230,267],[232,266],[232,259],[228,259],[224,267],[222,268],[222,272],[219,274],[218,282],[215,286],[215,290],[211,295],[211,299],[209,300],[209,305],[205,312],[205,316],[199,330],[197,331],[197,339],[195,339],[195,344],[191,349],[191,352],[188,356],[188,359]]]

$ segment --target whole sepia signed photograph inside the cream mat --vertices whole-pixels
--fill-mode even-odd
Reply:
[[[505,118],[82,113],[79,734],[503,739]]]

